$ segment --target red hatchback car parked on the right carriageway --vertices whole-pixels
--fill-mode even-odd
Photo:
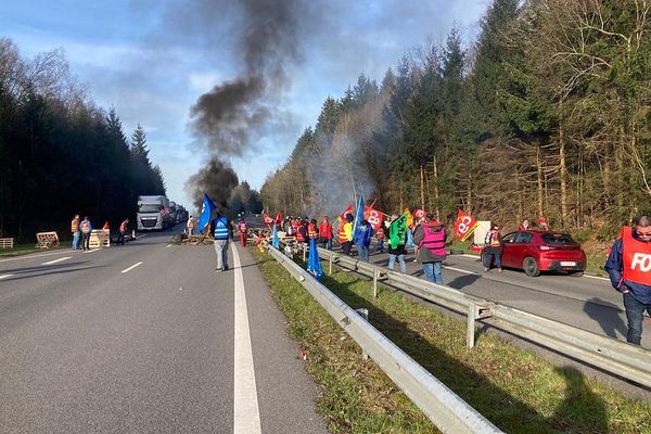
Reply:
[[[523,269],[526,276],[566,271],[578,277],[586,269],[586,253],[566,233],[523,230],[502,237],[502,267]]]

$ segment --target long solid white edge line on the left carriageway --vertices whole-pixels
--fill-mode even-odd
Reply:
[[[240,255],[234,245],[232,245],[232,251],[235,295],[233,434],[260,434],[260,413],[255,386],[244,277],[242,276]]]

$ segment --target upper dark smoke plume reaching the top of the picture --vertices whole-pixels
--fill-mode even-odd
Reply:
[[[219,8],[216,2],[214,8]],[[215,86],[191,107],[191,130],[215,154],[242,156],[275,115],[290,87],[289,71],[302,59],[307,0],[244,0],[234,25],[239,77]]]

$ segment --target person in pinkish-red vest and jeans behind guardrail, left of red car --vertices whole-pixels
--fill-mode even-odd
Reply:
[[[446,232],[443,224],[427,214],[413,232],[413,243],[419,247],[419,260],[423,264],[423,273],[430,282],[443,284],[443,260]]]

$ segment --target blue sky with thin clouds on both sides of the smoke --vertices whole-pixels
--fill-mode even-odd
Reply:
[[[184,182],[206,159],[188,128],[190,107],[242,69],[230,31],[238,3],[206,9],[210,1],[0,0],[0,37],[28,59],[62,48],[92,100],[115,106],[127,137],[139,123],[144,127],[168,196],[189,206]],[[285,127],[270,127],[242,157],[230,158],[240,180],[259,189],[315,124],[323,100],[341,97],[360,73],[380,81],[401,55],[427,40],[443,41],[455,22],[472,38],[488,2],[322,0],[298,43],[302,61],[289,65],[291,80],[277,102]],[[193,8],[213,13],[197,20]]]

